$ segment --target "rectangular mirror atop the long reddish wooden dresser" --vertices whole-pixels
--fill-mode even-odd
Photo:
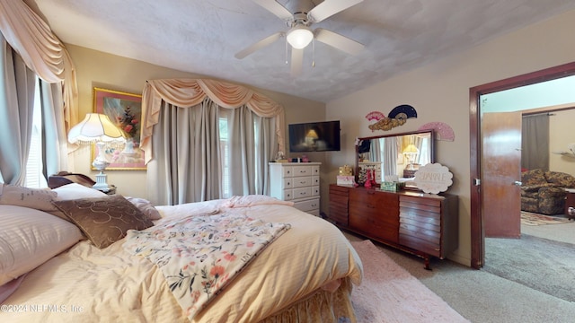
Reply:
[[[433,130],[358,138],[356,183],[362,186],[374,174],[376,183],[399,181],[417,189],[413,182],[420,166],[435,162]]]

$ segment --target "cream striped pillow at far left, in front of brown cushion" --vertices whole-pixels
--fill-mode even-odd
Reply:
[[[0,205],[0,237],[0,285],[83,239],[73,223],[16,205]]]

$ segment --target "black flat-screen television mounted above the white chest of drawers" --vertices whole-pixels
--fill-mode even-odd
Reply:
[[[339,120],[292,124],[288,130],[291,153],[340,150]]]

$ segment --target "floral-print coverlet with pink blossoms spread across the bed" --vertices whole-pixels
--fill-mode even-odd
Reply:
[[[194,215],[128,231],[124,249],[158,266],[191,319],[290,225],[244,214]]]

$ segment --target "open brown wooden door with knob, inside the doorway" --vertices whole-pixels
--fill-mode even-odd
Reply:
[[[482,217],[485,237],[521,235],[521,113],[482,116]]]

